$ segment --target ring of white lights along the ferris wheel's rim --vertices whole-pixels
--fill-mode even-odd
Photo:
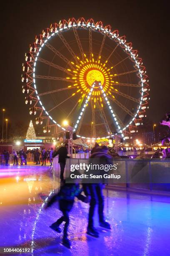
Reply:
[[[101,33],[102,35],[106,35],[108,38],[110,38],[111,40],[115,41],[115,40],[118,40],[118,43],[116,42],[117,46],[119,45],[123,51],[127,54],[127,51],[128,51],[128,54],[130,54],[129,56],[131,57],[131,61],[136,63],[136,67],[135,69],[138,70],[139,72],[139,75],[140,75],[140,82],[138,82],[139,84],[141,83],[141,86],[140,88],[142,89],[142,93],[141,93],[141,97],[140,97],[140,102],[139,102],[139,105],[137,106],[137,111],[136,113],[134,113],[134,117],[132,119],[130,119],[130,122],[128,123],[128,125],[126,125],[124,128],[122,129],[119,129],[120,133],[121,133],[121,136],[124,137],[123,135],[123,131],[126,131],[126,128],[128,128],[131,123],[133,123],[133,121],[135,120],[135,118],[137,117],[139,111],[140,111],[140,108],[141,108],[141,105],[142,105],[142,101],[143,101],[143,87],[144,87],[144,79],[143,79],[143,74],[140,70],[140,64],[138,63],[138,61],[136,60],[136,57],[135,57],[135,54],[133,54],[133,51],[131,51],[132,49],[130,49],[130,47],[121,39],[122,37],[119,37],[119,35],[117,36],[115,33],[111,32],[111,31],[108,31],[107,28],[101,28],[99,26],[96,26],[95,24],[81,24],[80,26],[77,24],[77,25],[70,25],[70,26],[65,26],[64,28],[60,28],[60,29],[57,29],[55,32],[51,33],[51,35],[49,35],[45,41],[43,41],[42,45],[40,45],[40,48],[38,49],[37,51],[37,54],[36,54],[36,57],[35,57],[35,60],[33,61],[33,73],[32,73],[32,79],[33,79],[33,85],[34,85],[34,88],[35,88],[35,93],[36,93],[36,97],[37,97],[37,100],[38,102],[40,103],[43,111],[45,112],[45,114],[48,116],[48,118],[50,118],[50,120],[55,124],[57,125],[58,127],[60,127],[63,131],[66,131],[66,129],[64,127],[62,127],[62,125],[60,125],[59,123],[57,123],[56,120],[54,120],[52,118],[52,116],[48,113],[49,111],[47,111],[44,107],[44,105],[42,104],[41,100],[40,100],[40,96],[38,95],[38,91],[37,91],[37,87],[36,87],[36,75],[35,75],[35,70],[36,70],[36,63],[37,63],[37,60],[39,58],[39,55],[40,55],[40,51],[42,50],[43,46],[45,46],[45,44],[50,40],[50,38],[54,37],[55,35],[58,35],[58,33],[63,33],[63,32],[66,32],[66,31],[70,31],[70,29],[78,29],[78,28],[84,28],[85,30],[89,30],[90,28],[92,28],[93,30],[95,29],[95,31],[97,31],[98,33]],[[108,26],[107,26],[108,27]],[[102,88],[101,88],[102,89]],[[117,122],[118,123],[118,122]],[[119,125],[119,124],[118,124]],[[119,125],[120,126],[120,125]],[[89,138],[89,137],[85,137],[85,136],[79,136],[78,137],[81,137],[81,138]],[[106,137],[102,137],[102,138],[108,138],[110,136],[106,136]],[[92,138],[92,139],[97,139],[97,138]]]

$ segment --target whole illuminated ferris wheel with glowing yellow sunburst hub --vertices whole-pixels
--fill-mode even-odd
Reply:
[[[43,131],[65,131],[63,120],[82,138],[128,139],[146,116],[149,84],[132,43],[101,21],[70,18],[52,23],[25,54],[25,103]]]

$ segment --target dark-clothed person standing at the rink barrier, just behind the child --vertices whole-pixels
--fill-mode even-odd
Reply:
[[[60,164],[60,179],[61,179],[61,182],[64,181],[64,176],[63,175],[64,175],[66,158],[70,158],[70,156],[67,156],[67,154],[68,154],[67,146],[68,146],[68,144],[65,143],[65,146],[60,147],[53,156],[53,157],[55,157],[55,156],[59,155],[58,163]]]

